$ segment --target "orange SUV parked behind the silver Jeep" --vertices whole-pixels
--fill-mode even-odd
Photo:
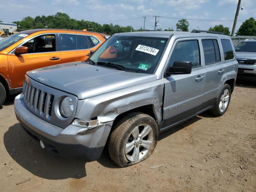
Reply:
[[[105,34],[62,29],[26,30],[0,40],[0,106],[6,93],[22,91],[27,71],[87,60],[105,41]]]

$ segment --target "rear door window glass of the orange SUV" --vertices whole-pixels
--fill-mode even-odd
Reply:
[[[76,50],[76,35],[60,34],[60,51]]]

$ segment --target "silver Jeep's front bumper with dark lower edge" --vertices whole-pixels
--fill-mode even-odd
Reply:
[[[42,140],[46,150],[86,161],[100,158],[113,124],[113,122],[107,122],[91,130],[72,125],[63,129],[30,112],[24,105],[22,94],[16,96],[14,108],[21,126],[33,138]]]

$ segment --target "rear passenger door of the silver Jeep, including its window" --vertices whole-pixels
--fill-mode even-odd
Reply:
[[[220,41],[218,38],[201,38],[203,48],[203,62],[206,76],[204,87],[204,107],[213,105],[218,91],[221,88],[221,80],[225,74],[226,66],[220,54]]]

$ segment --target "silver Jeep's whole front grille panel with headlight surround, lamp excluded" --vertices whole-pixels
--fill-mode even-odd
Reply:
[[[74,111],[68,118],[59,112],[60,102],[64,97],[72,98]],[[75,116],[78,98],[73,94],[44,85],[32,78],[25,76],[23,84],[23,102],[34,115],[61,128],[70,125]]]

